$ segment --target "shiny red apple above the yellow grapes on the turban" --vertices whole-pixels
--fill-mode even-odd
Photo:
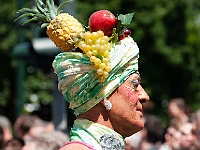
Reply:
[[[104,35],[110,36],[113,28],[116,27],[117,19],[108,10],[94,12],[89,18],[89,28],[91,32],[103,31]]]

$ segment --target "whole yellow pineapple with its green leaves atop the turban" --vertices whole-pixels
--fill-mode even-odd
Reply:
[[[24,22],[26,24],[36,21],[41,27],[46,27],[46,33],[54,44],[63,51],[70,51],[75,48],[75,39],[80,33],[85,32],[82,24],[68,13],[61,13],[61,8],[70,2],[63,2],[58,8],[55,7],[53,0],[46,0],[46,4],[42,0],[36,0],[37,10],[30,8],[22,8],[18,13],[23,13],[16,20],[22,17],[31,17]]]

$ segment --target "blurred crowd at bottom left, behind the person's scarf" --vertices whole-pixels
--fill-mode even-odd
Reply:
[[[58,150],[69,140],[52,122],[35,115],[21,115],[12,125],[0,115],[0,150]]]

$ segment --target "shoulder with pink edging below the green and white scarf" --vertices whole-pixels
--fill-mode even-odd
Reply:
[[[94,150],[92,147],[88,146],[87,144],[79,141],[73,141],[66,143],[63,147],[59,150]]]

